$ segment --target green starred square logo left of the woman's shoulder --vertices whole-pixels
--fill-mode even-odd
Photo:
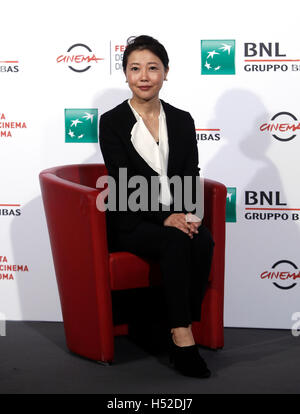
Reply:
[[[65,109],[65,142],[98,142],[98,109]]]

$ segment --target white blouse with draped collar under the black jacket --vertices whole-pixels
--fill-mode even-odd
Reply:
[[[146,127],[143,118],[133,108],[129,99],[128,104],[137,120],[131,130],[132,145],[140,156],[146,161],[146,163],[159,175],[159,181],[161,184],[159,202],[169,206],[173,202],[173,198],[170,192],[167,176],[169,142],[164,108],[160,103],[160,113],[158,118],[159,145],[157,145],[149,129]]]

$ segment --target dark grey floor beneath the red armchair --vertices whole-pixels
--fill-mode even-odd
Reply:
[[[300,336],[289,330],[225,328],[225,347],[200,348],[209,379],[183,377],[164,349],[115,339],[101,366],[68,351],[62,323],[7,322],[0,336],[1,394],[290,394],[300,391]]]

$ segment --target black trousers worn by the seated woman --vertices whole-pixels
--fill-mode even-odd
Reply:
[[[190,239],[176,227],[142,221],[130,232],[115,234],[114,250],[159,262],[170,328],[201,318],[214,242],[203,224],[198,231]]]

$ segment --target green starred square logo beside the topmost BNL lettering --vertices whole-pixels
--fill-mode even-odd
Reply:
[[[201,40],[201,74],[235,75],[235,40]]]

